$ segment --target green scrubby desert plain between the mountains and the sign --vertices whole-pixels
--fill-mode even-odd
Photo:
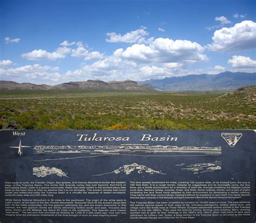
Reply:
[[[256,129],[255,92],[6,91],[0,128]]]

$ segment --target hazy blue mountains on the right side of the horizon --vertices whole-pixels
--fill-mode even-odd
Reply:
[[[240,87],[256,85],[256,73],[223,72],[174,76],[172,78],[151,79],[138,82],[165,91],[229,91]]]

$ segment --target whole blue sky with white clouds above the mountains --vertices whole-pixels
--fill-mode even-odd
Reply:
[[[2,0],[0,80],[256,72],[256,2]]]

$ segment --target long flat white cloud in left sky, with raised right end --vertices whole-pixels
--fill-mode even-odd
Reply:
[[[63,59],[66,57],[66,54],[69,54],[71,48],[67,47],[58,47],[56,51],[47,52],[46,50],[33,50],[29,53],[23,53],[22,57],[28,60],[57,60]]]

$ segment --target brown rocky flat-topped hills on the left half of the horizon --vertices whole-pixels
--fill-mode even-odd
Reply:
[[[149,85],[138,85],[137,82],[87,80],[60,83],[59,85],[35,85],[33,83],[17,83],[14,81],[0,81],[0,90],[130,90],[138,92],[154,91]]]

